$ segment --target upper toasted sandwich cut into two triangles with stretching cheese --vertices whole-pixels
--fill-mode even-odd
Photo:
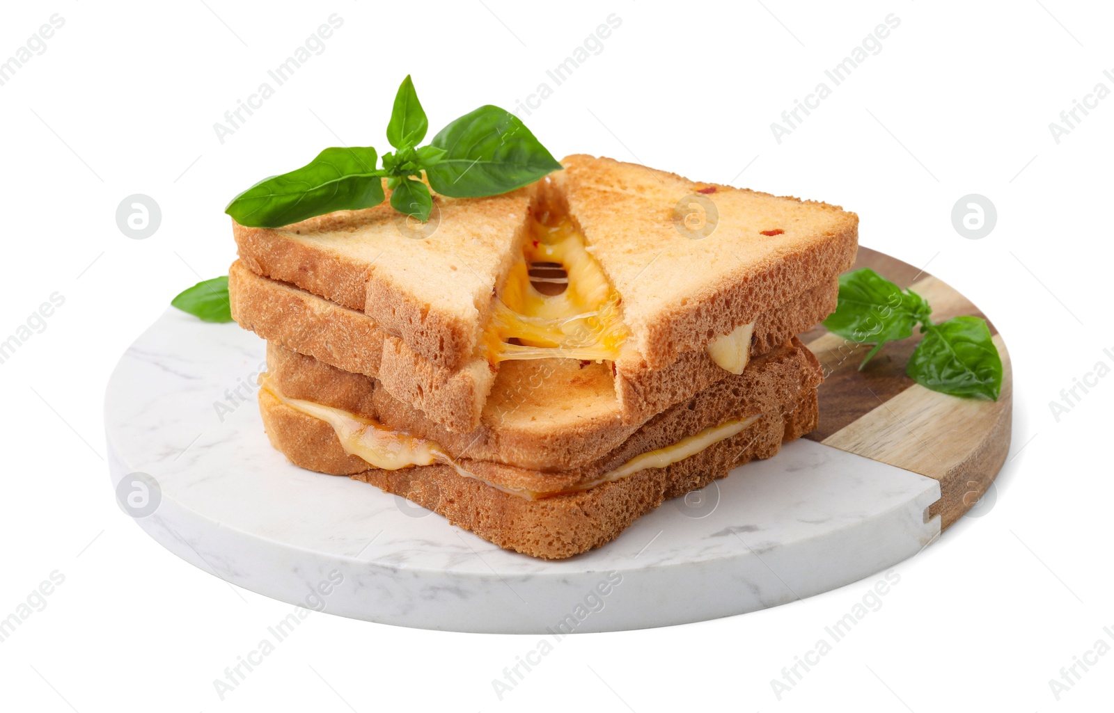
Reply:
[[[233,295],[233,314],[265,338],[382,378],[395,397],[467,433],[492,383],[485,367],[494,374],[506,359],[610,363],[622,418],[637,424],[834,308],[836,277],[854,259],[854,214],[612,159],[564,165],[504,196],[434,196],[424,226],[385,202],[281,229],[237,225],[246,269],[233,291],[253,284],[251,271],[306,295],[252,305],[252,294],[273,291],[256,285]],[[715,225],[694,237],[686,220],[696,209]],[[539,266],[565,274],[540,278],[564,279],[563,293],[538,291],[530,268]],[[369,324],[345,316],[341,334],[309,295]],[[379,338],[361,341],[361,330]],[[710,345],[729,334],[734,359],[713,358]],[[368,359],[352,348],[333,357],[364,341],[374,343],[374,368],[353,366]]]

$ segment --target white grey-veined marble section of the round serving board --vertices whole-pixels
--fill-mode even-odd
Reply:
[[[113,486],[183,559],[310,608],[467,632],[680,624],[854,582],[940,533],[928,516],[936,479],[799,440],[665,503],[604,547],[536,559],[287,463],[255,403],[263,368],[255,335],[168,310],[109,383]]]

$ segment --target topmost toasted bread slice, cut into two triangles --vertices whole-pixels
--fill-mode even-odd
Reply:
[[[434,196],[426,226],[388,202],[281,229],[234,225],[240,257],[258,275],[363,311],[443,368],[485,356],[483,331],[522,260],[531,208],[567,212],[583,231],[620,296],[628,358],[649,368],[705,348],[854,259],[858,217],[838,207],[606,158],[564,165],[504,196]],[[714,230],[691,230],[693,216]]]

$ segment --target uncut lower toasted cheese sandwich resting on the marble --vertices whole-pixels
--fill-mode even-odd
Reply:
[[[815,428],[821,380],[793,339],[632,427],[618,418],[608,369],[520,362],[500,370],[485,425],[461,436],[374,379],[274,343],[267,369],[263,424],[295,465],[371,483],[544,558],[610,542],[665,499],[774,455]]]

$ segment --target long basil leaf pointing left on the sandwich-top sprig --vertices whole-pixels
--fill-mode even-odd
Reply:
[[[242,226],[278,228],[334,210],[383,202],[385,172],[375,170],[375,149],[328,148],[289,174],[255,184],[232,199],[225,212]]]

